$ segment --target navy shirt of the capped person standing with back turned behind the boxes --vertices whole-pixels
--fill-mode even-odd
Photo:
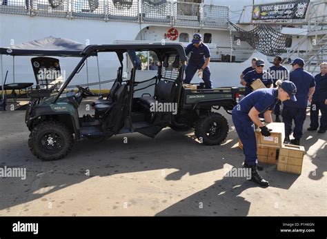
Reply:
[[[284,106],[306,108],[309,89],[316,85],[315,78],[303,68],[297,68],[290,72],[290,81],[297,87],[297,94],[295,94],[297,101],[285,101]]]

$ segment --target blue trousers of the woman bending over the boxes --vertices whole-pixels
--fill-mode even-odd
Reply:
[[[255,125],[248,115],[237,113],[236,106],[232,110],[232,123],[234,123],[239,139],[243,144],[243,153],[247,165],[255,165],[257,159],[257,141],[255,139]]]

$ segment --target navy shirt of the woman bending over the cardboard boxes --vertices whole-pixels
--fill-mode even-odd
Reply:
[[[259,89],[251,94],[248,94],[239,101],[239,103],[234,107],[232,111],[233,114],[241,114],[248,116],[248,112],[255,107],[255,109],[260,112],[260,114],[266,112],[267,110],[273,110],[273,107],[278,101],[278,90],[276,88]],[[250,117],[248,116],[250,119]]]

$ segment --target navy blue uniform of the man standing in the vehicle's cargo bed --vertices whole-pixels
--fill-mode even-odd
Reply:
[[[206,58],[210,57],[210,50],[207,45],[201,43],[199,48],[196,48],[193,43],[190,43],[185,49],[186,55],[190,53],[190,59],[185,70],[185,83],[190,83],[197,70],[201,69],[206,61]],[[212,81],[210,81],[210,68],[209,65],[204,68],[202,79],[207,89],[212,88]]]

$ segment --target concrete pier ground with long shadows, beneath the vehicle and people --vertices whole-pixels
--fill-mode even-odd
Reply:
[[[222,145],[166,128],[155,139],[85,140],[52,162],[28,149],[25,111],[0,112],[0,167],[26,169],[25,179],[0,178],[0,216],[327,216],[327,134],[307,132],[309,116],[302,174],[262,164],[262,188],[227,176],[244,154],[231,116],[219,112],[230,126]]]

